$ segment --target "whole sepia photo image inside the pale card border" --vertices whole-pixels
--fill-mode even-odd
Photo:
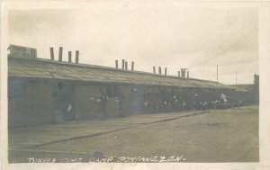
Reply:
[[[8,164],[260,162],[257,7],[85,4],[6,11]]]

